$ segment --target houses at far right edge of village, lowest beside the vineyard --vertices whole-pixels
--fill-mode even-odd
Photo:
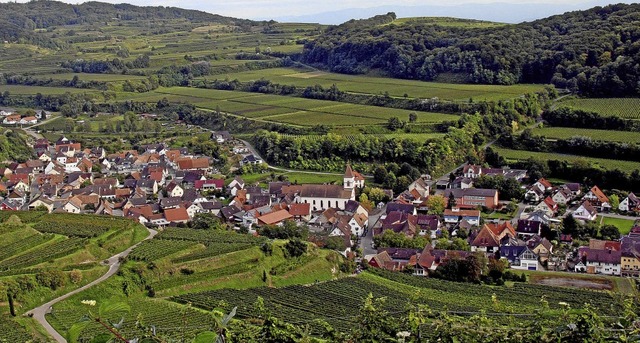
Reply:
[[[640,277],[640,222],[620,241],[592,239],[580,247],[574,261],[576,272]]]

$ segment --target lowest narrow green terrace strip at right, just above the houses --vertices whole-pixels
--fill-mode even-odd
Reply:
[[[530,157],[539,160],[559,160],[559,161],[567,161],[569,163],[576,161],[584,161],[586,163],[593,164],[602,169],[620,169],[622,171],[633,171],[635,169],[640,169],[640,162],[633,161],[622,161],[622,160],[608,160],[604,158],[593,158],[593,157],[584,157],[584,156],[576,156],[576,155],[564,155],[564,154],[556,154],[550,152],[533,152],[526,150],[512,150],[512,149],[504,149],[504,148],[493,148],[494,151],[498,152],[500,156],[504,157],[507,160],[512,161],[524,161]]]

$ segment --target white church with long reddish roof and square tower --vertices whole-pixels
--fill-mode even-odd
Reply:
[[[344,210],[349,200],[356,200],[355,188],[364,187],[364,177],[347,165],[340,185],[301,185],[297,202],[311,204],[311,210]]]

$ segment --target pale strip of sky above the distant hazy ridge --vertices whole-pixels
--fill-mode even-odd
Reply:
[[[14,1],[14,0],[12,0]],[[130,3],[138,6],[175,6],[188,9],[202,10],[224,16],[245,19],[266,19],[303,16],[315,13],[332,12],[351,8],[370,8],[384,5],[395,6],[424,6],[424,5],[460,5],[471,3],[537,3],[537,4],[566,4],[575,5],[576,9],[585,8],[585,0],[99,0],[108,3]],[[0,0],[0,2],[8,2]],[[17,2],[27,2],[18,0]],[[80,3],[82,1],[64,1]],[[625,2],[628,0],[607,1],[592,0],[589,4],[607,5],[609,3]]]

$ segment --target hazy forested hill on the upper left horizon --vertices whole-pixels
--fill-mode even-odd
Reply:
[[[186,19],[194,23],[219,23],[248,25],[245,19],[235,19],[203,11],[185,10],[176,7],[140,7],[129,4],[86,2],[71,5],[59,1],[33,0],[27,3],[0,3],[0,39],[10,42],[22,41],[39,45],[51,44],[39,37],[34,30],[61,25],[96,24],[122,20]]]

